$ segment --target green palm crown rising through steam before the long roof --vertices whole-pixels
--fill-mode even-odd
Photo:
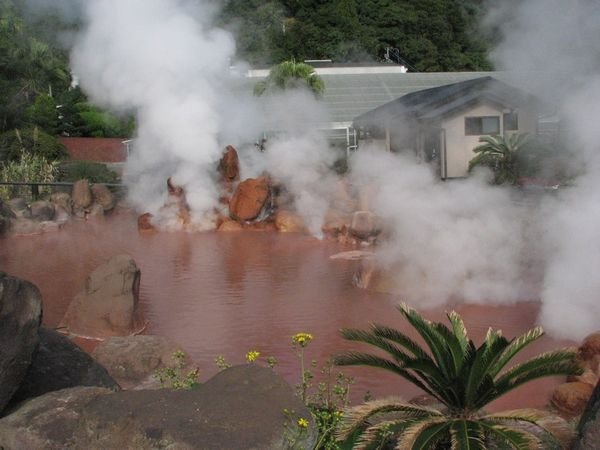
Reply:
[[[292,59],[277,64],[271,69],[266,79],[256,83],[254,95],[261,96],[271,90],[299,87],[308,87],[317,97],[320,97],[325,90],[323,79],[317,75],[314,67]]]

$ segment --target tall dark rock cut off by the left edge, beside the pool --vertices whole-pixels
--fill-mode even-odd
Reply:
[[[0,412],[29,369],[41,320],[38,288],[0,272]]]

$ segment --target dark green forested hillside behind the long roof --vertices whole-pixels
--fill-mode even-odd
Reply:
[[[387,49],[418,71],[489,70],[478,0],[228,0],[222,22],[253,64],[295,58],[381,61]],[[392,58],[393,59],[393,58]],[[397,61],[396,61],[397,62]]]

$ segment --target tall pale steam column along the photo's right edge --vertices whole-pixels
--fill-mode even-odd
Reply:
[[[557,102],[568,150],[585,168],[571,187],[546,199],[539,226],[546,248],[541,324],[581,339],[600,323],[600,4],[532,0],[507,11],[490,19],[506,21],[496,62],[528,73]]]

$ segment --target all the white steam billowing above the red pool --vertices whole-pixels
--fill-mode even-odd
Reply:
[[[372,209],[390,230],[378,257],[397,269],[408,300],[431,306],[452,299],[528,299],[524,259],[535,259],[537,247],[526,246],[525,236],[534,236],[545,261],[542,325],[553,335],[579,339],[596,331],[600,317],[600,8],[583,0],[503,5],[485,24],[503,31],[493,57],[499,69],[527,74],[524,86],[561,100],[569,142],[587,169],[574,186],[546,199],[532,216],[509,190],[488,187],[481,177],[442,184],[426,165],[367,148],[351,161],[351,181],[372,193]],[[85,9],[72,67],[96,103],[138,118],[126,170],[135,206],[157,213],[165,180],[173,176],[186,188],[194,219],[209,226],[218,196],[211,174],[224,145],[278,129],[264,156],[242,146],[244,176],[269,170],[284,181],[311,231],[319,233],[334,183],[324,168],[333,156],[318,133],[326,114],[310,96],[259,105],[239,95],[240,80],[224,76],[232,73],[233,39],[211,25],[208,3],[91,0]],[[562,68],[569,69],[566,78],[558,77]]]

